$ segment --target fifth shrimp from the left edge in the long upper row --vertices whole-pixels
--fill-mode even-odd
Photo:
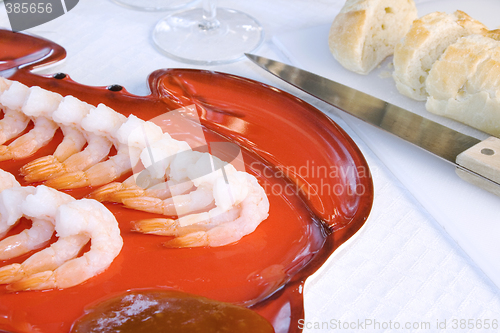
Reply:
[[[112,182],[116,178],[132,171],[139,161],[142,150],[150,143],[158,141],[162,130],[152,122],[146,122],[130,115],[116,133],[117,154],[83,171],[71,172],[49,179],[47,185],[70,189],[85,186],[98,186]]]

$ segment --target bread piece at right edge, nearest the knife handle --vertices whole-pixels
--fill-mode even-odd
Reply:
[[[500,137],[499,41],[483,35],[459,39],[432,66],[426,89],[428,111]]]

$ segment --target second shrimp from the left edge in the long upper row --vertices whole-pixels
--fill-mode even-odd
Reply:
[[[62,96],[59,94],[36,86],[29,88],[29,95],[21,110],[33,120],[34,127],[28,133],[15,139],[8,146],[0,146],[0,161],[22,159],[31,156],[52,140],[59,126],[50,119],[50,116],[56,110],[61,100]]]

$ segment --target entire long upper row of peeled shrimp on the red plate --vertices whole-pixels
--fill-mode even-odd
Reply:
[[[53,155],[24,165],[24,179],[57,189],[102,186],[90,198],[164,215],[135,221],[134,230],[173,236],[167,247],[231,244],[268,217],[267,195],[254,176],[191,149],[151,121],[2,78],[0,108],[5,141],[34,124],[0,146],[0,160],[33,154],[61,128],[64,138]],[[117,153],[109,157],[112,146]],[[138,165],[141,172],[114,182]]]

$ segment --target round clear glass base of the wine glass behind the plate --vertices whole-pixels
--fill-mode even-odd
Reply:
[[[259,22],[243,12],[217,8],[215,0],[203,0],[202,8],[170,14],[153,30],[153,41],[161,52],[196,65],[237,61],[263,40]]]

